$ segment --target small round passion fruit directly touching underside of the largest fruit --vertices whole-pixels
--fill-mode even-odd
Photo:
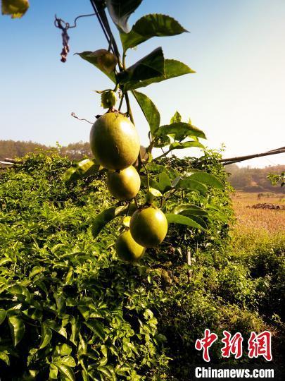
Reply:
[[[141,179],[132,165],[120,171],[108,171],[107,188],[118,200],[131,200],[139,192],[140,186]]]

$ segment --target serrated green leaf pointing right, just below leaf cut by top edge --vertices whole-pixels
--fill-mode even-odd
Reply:
[[[186,29],[170,16],[151,14],[137,20],[129,33],[121,32],[120,37],[124,50],[136,47],[141,42],[152,37],[166,37],[180,35]]]

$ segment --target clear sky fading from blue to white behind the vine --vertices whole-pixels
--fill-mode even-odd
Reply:
[[[55,13],[72,23],[92,9],[88,0],[31,0],[22,19],[0,16],[0,139],[47,145],[87,141],[89,123],[73,119],[71,112],[89,120],[103,113],[92,90],[106,89],[110,81],[73,55],[106,48],[96,18],[82,18],[70,30],[70,54],[61,63]],[[208,147],[226,145],[224,157],[284,145],[284,0],[144,0],[129,24],[146,13],[169,14],[190,31],[153,38],[127,56],[131,64],[162,46],[166,58],[196,71],[141,89],[157,105],[163,124],[176,110],[185,120],[191,116],[208,136]],[[146,121],[135,104],[133,109],[146,143]],[[285,154],[243,162],[273,164],[285,164]]]

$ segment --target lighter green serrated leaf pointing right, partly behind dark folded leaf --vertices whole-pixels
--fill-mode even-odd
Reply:
[[[163,80],[168,80],[170,78],[179,77],[180,75],[195,73],[189,66],[185,65],[180,61],[175,59],[165,59],[164,61],[164,75],[158,75],[157,77],[140,80],[140,81],[132,81],[132,83],[128,83],[125,85],[125,90],[134,90],[139,89],[139,87],[146,87],[151,85],[151,83],[158,83]]]

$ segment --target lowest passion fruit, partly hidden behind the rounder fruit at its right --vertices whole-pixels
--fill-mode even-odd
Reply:
[[[144,255],[146,248],[134,241],[129,230],[126,230],[118,237],[115,250],[120,260],[135,263]]]

